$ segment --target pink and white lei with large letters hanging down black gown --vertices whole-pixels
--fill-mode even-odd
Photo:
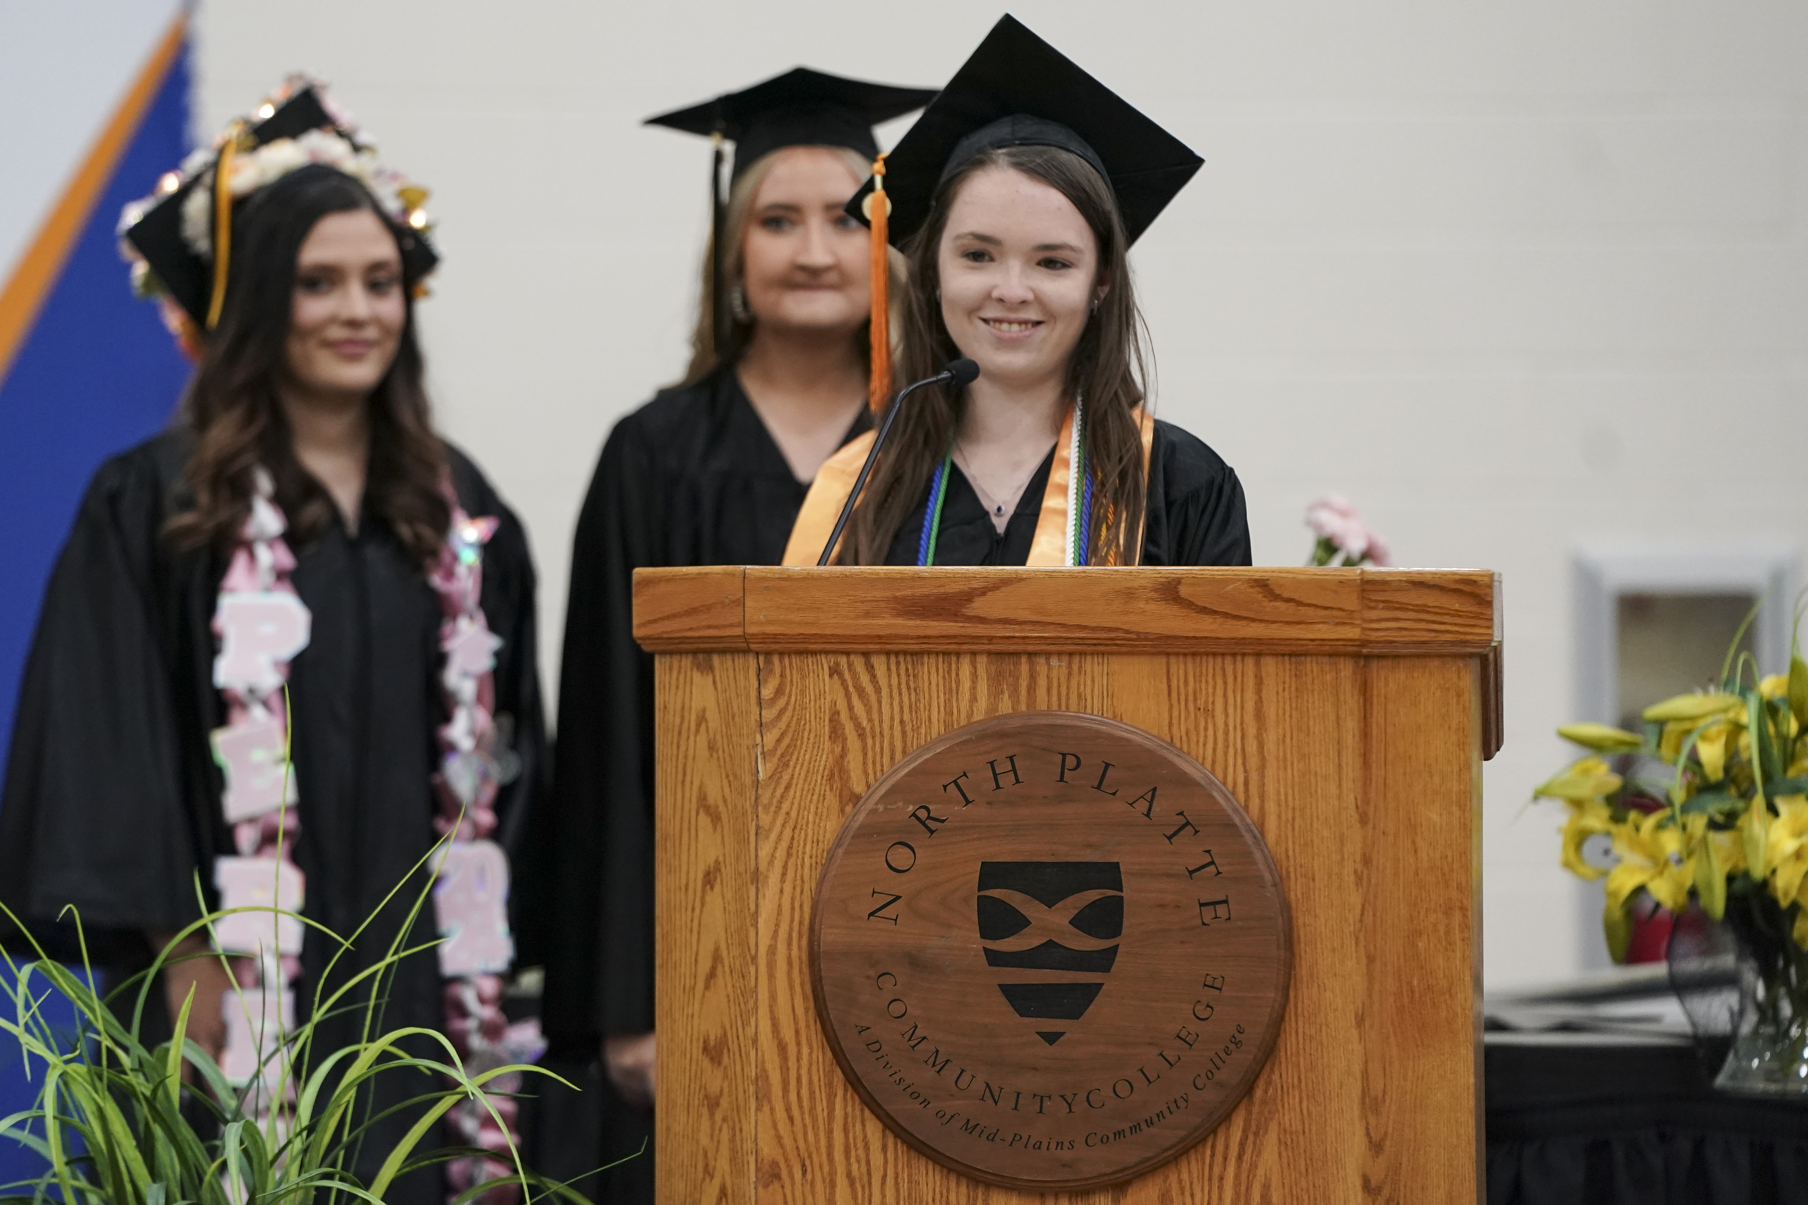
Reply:
[[[508,1062],[539,1057],[535,1023],[510,1026],[503,1015],[503,979],[515,956],[508,930],[508,856],[488,840],[495,829],[495,793],[501,786],[495,732],[495,650],[501,640],[483,616],[483,547],[495,535],[495,518],[472,518],[457,502],[450,481],[441,482],[452,508],[447,542],[428,584],[439,596],[439,649],[445,663],[439,685],[450,719],[436,733],[439,768],[432,786],[434,826],[448,838],[436,853],[434,912],[439,936],[439,974],[445,990],[447,1037],[472,1075]],[[289,574],[295,555],[284,533],[287,520],[273,500],[269,473],[257,470],[251,515],[221,582],[213,612],[219,656],[213,685],[226,703],[226,724],[212,733],[213,759],[226,789],[222,806],[237,855],[215,860],[213,882],[221,909],[280,909],[300,912],[306,898],[295,865],[297,782],[286,761],[287,706],[284,687],[289,663],[307,647],[311,616]],[[222,952],[246,956],[235,965],[240,999],[228,995],[222,1071],[248,1091],[257,1113],[284,1107],[277,1100],[286,1077],[280,1053],[295,1028],[293,983],[300,974],[302,923],[269,911],[233,912],[213,927]],[[517,1086],[499,1077],[488,1104],[513,1122]],[[452,1115],[466,1145],[497,1149],[503,1136],[479,1100],[461,1102]],[[486,1140],[488,1138],[488,1140]],[[456,1160],[447,1180],[454,1192],[481,1183],[506,1167],[494,1160]]]

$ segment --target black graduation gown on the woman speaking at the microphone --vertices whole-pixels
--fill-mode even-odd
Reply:
[[[960,466],[951,466],[935,542],[938,565],[1022,565],[1029,560],[1041,517],[1041,495],[1054,468],[1054,448],[1023,486],[1016,509],[1000,533]],[[922,502],[899,524],[886,551],[888,565],[915,565],[922,544]],[[1248,565],[1249,518],[1244,513],[1237,470],[1199,437],[1155,419],[1148,457],[1148,518],[1143,528],[1144,565]]]

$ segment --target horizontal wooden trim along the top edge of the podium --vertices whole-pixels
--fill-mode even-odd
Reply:
[[[640,569],[635,636],[654,652],[1484,654],[1497,598],[1481,569]]]

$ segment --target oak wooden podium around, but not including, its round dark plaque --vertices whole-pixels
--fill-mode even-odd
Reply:
[[[642,569],[658,654],[658,1200],[1475,1201],[1481,762],[1499,582],[1392,569]],[[1253,1089],[1108,1189],[956,1174],[862,1104],[819,1028],[837,829],[975,721],[1079,712],[1208,768],[1260,829],[1293,977]]]

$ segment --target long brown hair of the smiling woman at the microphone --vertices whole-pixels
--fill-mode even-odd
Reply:
[[[1130,287],[1130,240],[1117,211],[1117,197],[1085,159],[1056,146],[998,146],[980,152],[942,181],[929,202],[929,219],[904,248],[915,287],[904,291],[899,379],[935,376],[942,365],[960,356],[942,322],[937,257],[955,195],[967,179],[987,168],[1022,172],[1058,190],[1087,219],[1099,244],[1099,280],[1110,282],[1110,289],[1074,345],[1067,365],[1067,392],[1085,399],[1083,437],[1092,477],[1087,564],[1103,564],[1106,558],[1135,564],[1141,549],[1130,544],[1143,531],[1146,490],[1143,434],[1135,419],[1135,408],[1144,399],[1144,327]],[[949,385],[933,385],[911,396],[853,508],[837,564],[886,562],[899,524],[922,500],[929,475],[947,455],[964,405],[964,394]]]

